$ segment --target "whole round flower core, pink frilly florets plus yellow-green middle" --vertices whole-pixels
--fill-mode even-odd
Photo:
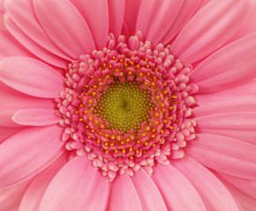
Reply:
[[[56,98],[66,149],[87,155],[110,181],[184,156],[196,124],[190,72],[169,46],[152,47],[139,32],[128,40],[110,33],[102,51],[69,65]]]

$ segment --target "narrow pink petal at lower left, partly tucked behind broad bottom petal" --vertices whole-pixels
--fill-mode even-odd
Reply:
[[[42,196],[49,186],[52,178],[55,177],[57,171],[59,171],[67,162],[68,153],[64,153],[56,160],[56,162],[35,176],[34,180],[28,186],[26,193],[21,200],[19,211],[38,210]]]

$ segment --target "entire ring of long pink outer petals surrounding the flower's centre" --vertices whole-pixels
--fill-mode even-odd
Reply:
[[[256,5],[250,0],[1,0],[0,211],[256,210]],[[141,31],[199,86],[184,157],[109,183],[64,148],[64,69]],[[72,155],[72,156],[71,156]]]

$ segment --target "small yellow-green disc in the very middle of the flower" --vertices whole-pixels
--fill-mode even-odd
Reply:
[[[140,88],[142,83],[125,81],[118,78],[109,85],[97,100],[96,113],[102,120],[109,122],[109,129],[123,134],[131,130],[138,132],[143,121],[148,122],[150,111],[154,109],[150,91]]]

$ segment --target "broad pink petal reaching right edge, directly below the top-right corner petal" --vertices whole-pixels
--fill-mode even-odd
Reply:
[[[200,92],[221,91],[252,80],[256,75],[256,34],[222,47],[192,71]],[[239,59],[237,59],[239,58]]]

